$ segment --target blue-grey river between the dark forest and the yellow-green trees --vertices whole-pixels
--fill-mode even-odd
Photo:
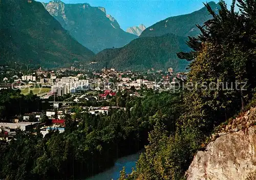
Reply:
[[[114,180],[117,180],[119,177],[119,173],[124,166],[125,166],[126,173],[132,172],[132,168],[133,167],[135,168],[136,162],[139,159],[140,153],[141,151],[136,154],[132,154],[132,155],[128,155],[123,158],[120,158],[115,162],[115,166],[113,166],[112,168],[104,172],[101,172],[99,174],[96,174],[92,177],[89,177],[86,180],[111,180],[112,178]]]

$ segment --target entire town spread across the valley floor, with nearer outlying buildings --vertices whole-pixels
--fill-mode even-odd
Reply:
[[[45,136],[49,130],[65,130],[66,114],[74,115],[71,109],[79,105],[84,113],[92,115],[105,114],[111,108],[123,108],[111,104],[119,93],[130,97],[143,97],[146,91],[172,91],[179,80],[184,81],[187,73],[175,73],[173,68],[147,70],[143,72],[117,71],[102,69],[101,71],[84,71],[75,68],[58,70],[15,71],[2,66],[0,89],[12,88],[22,94],[32,93],[41,99],[41,103],[49,104],[42,111],[19,114],[0,123],[1,138],[11,140],[15,130],[30,131],[40,126]]]

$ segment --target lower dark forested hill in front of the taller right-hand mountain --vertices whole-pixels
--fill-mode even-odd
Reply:
[[[103,50],[92,61],[102,68],[108,63],[119,70],[173,67],[176,71],[184,71],[188,62],[178,60],[176,53],[189,51],[185,41],[185,37],[174,34],[138,38],[123,48]]]

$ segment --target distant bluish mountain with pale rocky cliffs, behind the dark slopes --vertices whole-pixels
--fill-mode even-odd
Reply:
[[[123,31],[103,7],[92,7],[87,3],[65,4],[59,0],[42,4],[79,43],[95,53],[123,47],[138,37]]]

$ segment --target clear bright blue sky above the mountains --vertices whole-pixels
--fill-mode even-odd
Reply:
[[[37,0],[49,2],[49,0]],[[188,14],[201,9],[203,0],[61,0],[66,4],[89,3],[104,7],[123,30],[140,24],[149,27],[170,16]],[[211,1],[211,0],[210,0]],[[209,0],[207,2],[210,2]],[[218,3],[219,1],[213,0]],[[226,0],[228,6],[232,0]]]

